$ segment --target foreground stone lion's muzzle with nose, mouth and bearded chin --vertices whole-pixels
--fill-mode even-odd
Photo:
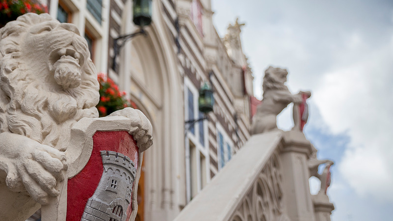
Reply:
[[[84,56],[71,47],[53,50],[48,59],[49,70],[58,85],[64,89],[75,88],[82,81]]]

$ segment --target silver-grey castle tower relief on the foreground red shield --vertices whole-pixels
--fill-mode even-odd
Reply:
[[[121,153],[100,153],[104,171],[96,191],[87,200],[81,221],[125,221],[137,174],[135,164]]]

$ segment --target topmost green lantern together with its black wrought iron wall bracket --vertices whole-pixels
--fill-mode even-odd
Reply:
[[[120,53],[120,49],[124,46],[126,41],[135,37],[138,34],[146,34],[143,27],[150,25],[151,23],[151,1],[152,0],[134,0],[133,3],[133,22],[135,25],[140,27],[140,30],[127,34],[121,35],[113,40],[113,61],[112,61],[112,69],[116,71],[116,57]]]

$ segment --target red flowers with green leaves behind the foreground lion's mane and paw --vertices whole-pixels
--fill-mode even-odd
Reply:
[[[131,101],[126,98],[126,92],[120,92],[119,87],[112,79],[100,73],[98,74],[98,82],[100,83],[100,102],[96,107],[100,117],[131,106]]]

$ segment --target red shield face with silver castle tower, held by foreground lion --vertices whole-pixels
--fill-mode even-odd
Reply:
[[[138,160],[127,131],[97,131],[87,165],[68,180],[67,221],[128,220]]]

